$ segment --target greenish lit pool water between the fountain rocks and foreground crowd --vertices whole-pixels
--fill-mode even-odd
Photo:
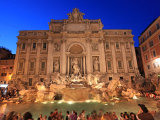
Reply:
[[[26,103],[26,104],[7,104],[5,105],[5,114],[10,111],[16,111],[18,113],[24,114],[27,111],[30,111],[33,114],[33,118],[37,119],[39,114],[49,116],[51,111],[54,111],[55,108],[58,108],[58,111],[62,112],[65,116],[67,110],[70,112],[75,110],[78,114],[82,111],[86,111],[86,115],[91,113],[93,110],[97,112],[102,109],[104,112],[116,112],[119,116],[121,112],[134,112],[137,113],[139,107],[137,104],[145,104],[150,111],[157,110],[157,102],[153,99],[139,98],[132,101],[123,101],[120,103],[98,103],[98,102],[82,102],[82,103],[64,103],[64,102],[43,102],[43,103]],[[4,105],[1,105],[4,106]]]

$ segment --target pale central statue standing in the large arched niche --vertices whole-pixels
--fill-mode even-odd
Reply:
[[[78,66],[78,58],[74,58],[72,61],[72,68],[74,75],[80,75],[80,68]]]

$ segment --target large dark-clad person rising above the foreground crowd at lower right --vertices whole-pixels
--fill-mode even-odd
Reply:
[[[140,110],[137,114],[137,117],[141,120],[154,120],[151,113],[148,112],[147,107],[144,104],[138,104]]]

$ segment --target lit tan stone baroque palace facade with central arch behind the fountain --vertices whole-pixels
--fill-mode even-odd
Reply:
[[[138,69],[131,30],[105,30],[100,19],[83,15],[75,8],[68,19],[51,19],[49,30],[20,31],[12,80],[34,86],[55,73],[133,79]]]

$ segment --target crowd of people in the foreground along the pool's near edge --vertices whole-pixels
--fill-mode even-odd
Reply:
[[[120,118],[115,112],[103,112],[103,110],[99,110],[99,112],[94,110],[90,114],[86,114],[85,110],[82,110],[79,114],[74,110],[71,113],[66,111],[66,115],[63,116],[62,112],[58,112],[58,109],[55,109],[48,117],[40,114],[37,120],[154,120],[144,104],[138,105],[140,110],[137,114],[124,112],[120,113]],[[2,120],[33,120],[33,117],[30,112],[26,112],[21,116],[21,114],[12,111],[8,115],[4,115]]]

